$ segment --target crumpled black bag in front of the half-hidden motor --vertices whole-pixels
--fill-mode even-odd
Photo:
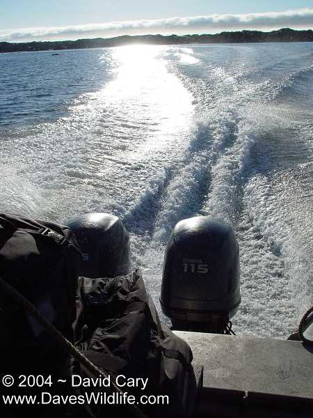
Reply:
[[[149,417],[191,416],[196,398],[191,349],[160,323],[140,270],[113,279],[80,277],[77,306],[77,347],[90,361],[111,376],[147,378],[148,396],[168,395],[168,405],[141,406]],[[138,388],[127,392],[143,394]]]

